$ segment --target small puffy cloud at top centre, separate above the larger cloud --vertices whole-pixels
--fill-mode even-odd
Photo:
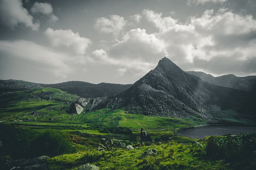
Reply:
[[[124,20],[124,17],[118,15],[110,15],[110,19],[106,17],[97,18],[95,21],[95,29],[100,33],[113,33],[118,35],[123,31],[124,26],[127,24],[127,21]]]

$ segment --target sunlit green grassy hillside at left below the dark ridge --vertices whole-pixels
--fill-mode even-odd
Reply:
[[[72,95],[54,88],[38,88],[10,92],[0,96],[0,118],[2,121],[49,120],[51,116],[65,114],[66,102],[76,101]]]

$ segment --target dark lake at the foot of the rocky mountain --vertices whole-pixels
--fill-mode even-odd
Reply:
[[[206,136],[225,135],[228,133],[236,135],[238,133],[250,132],[256,132],[256,125],[208,125],[181,129],[177,131],[177,134],[196,139],[203,139]]]

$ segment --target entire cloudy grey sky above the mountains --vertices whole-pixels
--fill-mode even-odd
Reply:
[[[0,79],[133,84],[184,71],[256,75],[256,0],[0,0]]]

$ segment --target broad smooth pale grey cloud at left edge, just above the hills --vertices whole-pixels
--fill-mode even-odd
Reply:
[[[40,46],[32,41],[0,41],[1,77],[41,82],[65,80],[74,69],[70,57]]]

